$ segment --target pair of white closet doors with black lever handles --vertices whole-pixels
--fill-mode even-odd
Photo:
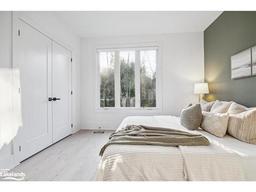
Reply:
[[[71,52],[22,20],[18,29],[13,70],[22,161],[72,133]]]

